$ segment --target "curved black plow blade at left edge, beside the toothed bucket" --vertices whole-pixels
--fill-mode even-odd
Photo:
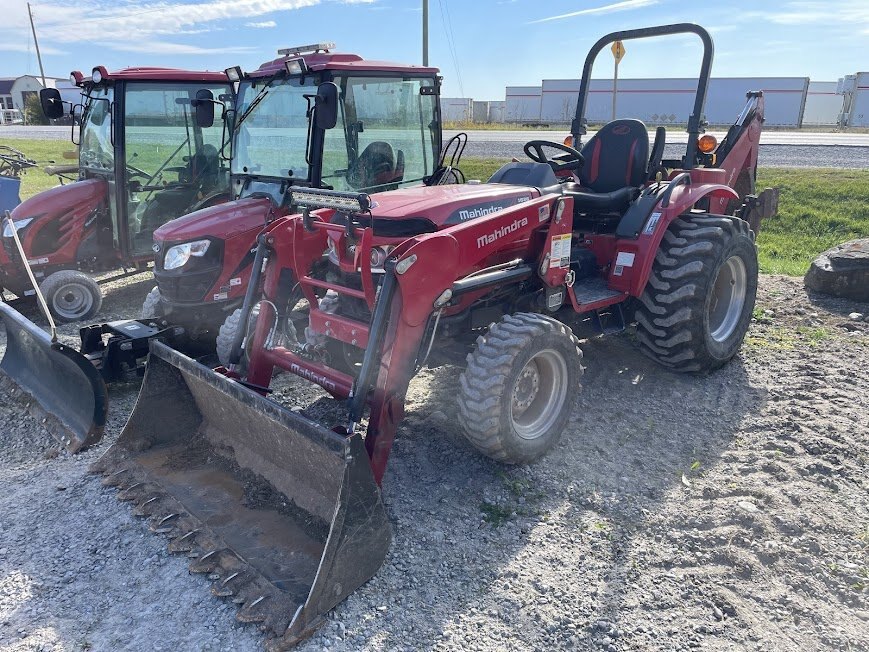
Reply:
[[[16,386],[38,404],[45,427],[71,453],[103,436],[108,394],[97,369],[81,353],[54,342],[8,304],[0,302],[6,327],[6,352],[0,361],[0,390]],[[35,406],[34,406],[35,407]]]

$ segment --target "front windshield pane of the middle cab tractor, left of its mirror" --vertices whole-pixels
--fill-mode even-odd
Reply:
[[[308,101],[304,95],[316,92],[313,83],[301,85],[298,78],[243,83],[238,115],[244,119],[235,132],[232,173],[307,179]],[[251,108],[254,100],[257,104]]]

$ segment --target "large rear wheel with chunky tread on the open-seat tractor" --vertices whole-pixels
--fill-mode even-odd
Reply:
[[[708,373],[742,346],[757,294],[748,224],[682,215],[664,234],[635,314],[647,356],[674,371]]]

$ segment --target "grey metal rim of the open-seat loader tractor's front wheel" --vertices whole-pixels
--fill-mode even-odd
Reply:
[[[567,363],[552,349],[532,357],[513,385],[510,418],[522,439],[545,435],[567,400]]]

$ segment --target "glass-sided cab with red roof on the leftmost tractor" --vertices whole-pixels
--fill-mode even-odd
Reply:
[[[223,124],[195,119],[199,102],[230,103],[223,73],[102,66],[89,79],[74,72],[82,89],[80,179],[108,188],[97,247],[122,260],[153,255],[152,236],[162,224],[225,200],[229,170],[219,149]]]

